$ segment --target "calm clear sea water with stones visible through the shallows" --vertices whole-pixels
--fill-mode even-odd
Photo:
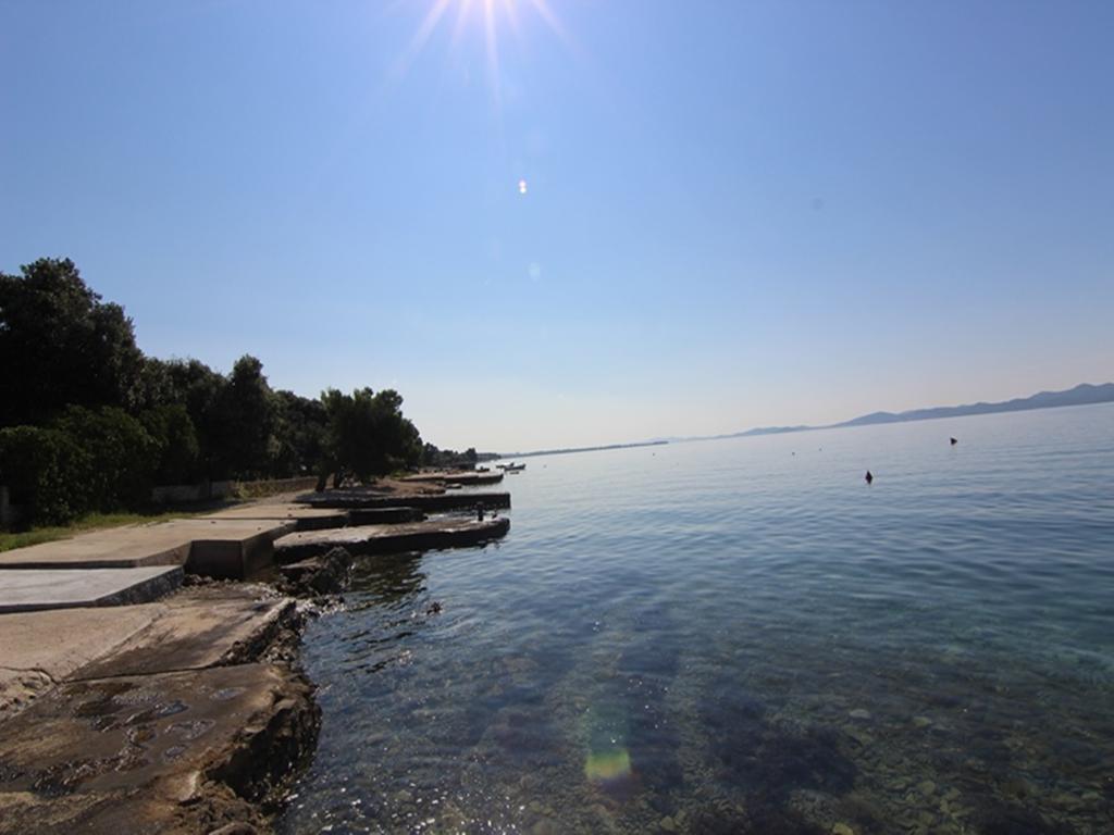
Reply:
[[[505,541],[360,563],[310,626],[280,832],[1114,831],[1114,406],[505,484]]]

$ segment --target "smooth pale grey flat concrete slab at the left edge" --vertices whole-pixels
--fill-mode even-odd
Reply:
[[[146,603],[182,586],[182,578],[175,566],[0,571],[0,615]]]

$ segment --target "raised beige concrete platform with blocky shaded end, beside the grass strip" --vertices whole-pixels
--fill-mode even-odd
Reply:
[[[209,577],[248,577],[271,560],[290,520],[177,519],[81,533],[0,553],[0,569],[185,566]]]

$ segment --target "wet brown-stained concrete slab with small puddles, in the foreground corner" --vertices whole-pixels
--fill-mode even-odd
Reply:
[[[0,833],[265,827],[312,748],[311,688],[266,664],[75,681],[0,724]]]

